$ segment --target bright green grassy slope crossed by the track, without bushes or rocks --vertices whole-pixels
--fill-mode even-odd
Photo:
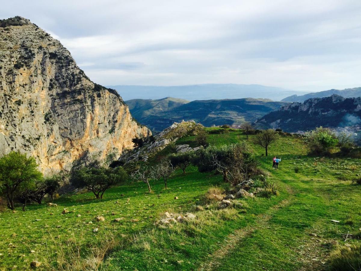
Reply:
[[[212,145],[241,140],[246,138],[240,130],[209,135]],[[195,145],[194,137],[180,143]],[[227,184],[221,175],[191,167],[185,175],[178,171],[167,190],[161,181],[152,182],[154,194],[146,193],[143,183],[129,182],[107,191],[102,200],[85,193],[60,198],[57,207],[5,210],[0,213],[0,267],[27,270],[36,259],[42,262],[38,270],[322,270],[337,242],[343,248],[360,244],[341,235],[360,236],[361,186],[351,184],[361,175],[360,159],[307,156],[299,137],[282,136],[268,157],[251,146],[279,196],[243,199],[240,209],[201,210],[195,206],[202,205],[208,188]],[[278,171],[271,167],[273,155],[282,158]],[[61,215],[64,208],[74,212]],[[166,211],[190,211],[196,220],[154,225]],[[97,215],[105,221],[97,222]]]

